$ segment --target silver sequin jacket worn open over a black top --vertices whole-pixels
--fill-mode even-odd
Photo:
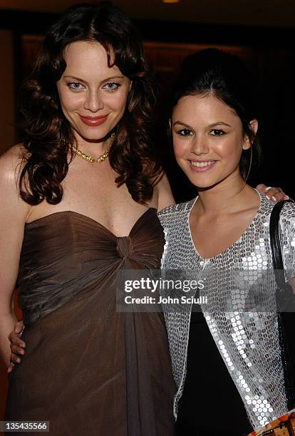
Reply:
[[[254,428],[266,425],[287,410],[274,279],[271,279],[267,288],[271,298],[266,309],[264,308],[262,312],[241,310],[249,298],[251,289],[249,271],[253,271],[255,280],[255,274],[259,276],[259,271],[272,270],[269,217],[274,204],[263,194],[259,194],[259,197],[259,210],[252,224],[232,246],[212,259],[202,259],[192,242],[189,216],[197,199],[167,207],[159,212],[166,240],[162,269],[186,271],[218,269],[220,272],[235,270],[241,273],[247,271],[242,291],[239,286],[238,294],[234,294],[237,284],[229,283],[229,280],[234,280],[236,275],[225,274],[226,278],[222,279],[224,274],[220,274],[219,283],[214,280],[209,289],[205,286],[208,303],[201,306],[212,337],[242,397]],[[294,204],[284,205],[280,226],[284,266],[289,271],[289,276],[286,273],[285,276],[286,280],[289,280],[295,275],[290,272],[295,269]],[[224,307],[224,299],[229,294],[233,307],[229,311],[222,312],[220,307]],[[259,296],[256,301],[259,305]],[[177,417],[177,405],[184,389],[186,376],[190,311],[170,311],[165,304],[163,310],[170,343],[172,370],[178,388],[174,402],[174,414]],[[202,338],[200,338],[200,353],[202,353]]]

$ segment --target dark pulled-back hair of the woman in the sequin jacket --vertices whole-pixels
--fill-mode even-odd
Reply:
[[[237,113],[244,135],[251,142],[239,162],[242,177],[247,180],[252,162],[257,167],[260,165],[262,149],[258,135],[251,129],[251,121],[258,118],[257,89],[242,60],[217,48],[187,56],[173,85],[171,110],[185,95],[214,95]]]

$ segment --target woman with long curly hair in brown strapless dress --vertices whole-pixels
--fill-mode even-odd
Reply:
[[[110,4],[66,11],[24,85],[26,138],[1,157],[1,355],[19,287],[26,355],[6,420],[52,435],[172,435],[162,313],[116,311],[122,269],[157,269],[173,202],[150,139],[140,38]]]

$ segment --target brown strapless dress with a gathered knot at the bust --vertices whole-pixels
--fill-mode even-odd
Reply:
[[[116,311],[115,295],[120,270],[160,267],[163,244],[152,208],[128,237],[71,211],[26,224],[26,355],[9,374],[6,420],[50,421],[54,436],[174,434],[164,317]]]

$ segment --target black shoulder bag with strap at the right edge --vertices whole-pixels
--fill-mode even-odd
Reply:
[[[288,200],[292,202],[293,200]],[[279,239],[279,216],[285,202],[274,205],[269,222],[272,262],[276,277],[276,307],[278,308],[279,342],[284,370],[288,410],[295,408],[295,296],[284,278],[284,264]]]

